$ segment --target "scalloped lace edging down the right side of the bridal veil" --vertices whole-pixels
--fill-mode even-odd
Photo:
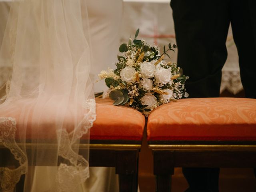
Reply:
[[[96,120],[95,100],[87,100],[85,108],[89,111],[87,114],[84,114],[83,120],[73,132],[68,133],[66,129],[57,130],[58,138],[60,138],[58,155],[69,160],[71,163],[71,165],[61,163],[58,167],[56,178],[58,182],[58,192],[72,192],[89,177],[89,162],[72,149],[72,145],[80,139],[83,134],[88,133],[88,130]],[[70,140],[70,138],[72,138],[72,140]]]

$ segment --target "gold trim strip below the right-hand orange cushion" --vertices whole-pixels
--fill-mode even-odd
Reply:
[[[256,150],[256,145],[167,145],[150,144],[152,150]]]

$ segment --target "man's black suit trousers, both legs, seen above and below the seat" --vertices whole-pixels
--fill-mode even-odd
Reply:
[[[256,98],[256,1],[171,0],[178,66],[190,98],[218,97],[231,23],[247,98]],[[218,192],[219,168],[183,168],[189,191]]]

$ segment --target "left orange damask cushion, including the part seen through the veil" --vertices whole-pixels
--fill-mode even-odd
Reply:
[[[54,114],[52,109],[59,107],[58,101],[55,103],[56,106],[50,107],[45,107],[43,103],[40,103],[39,105],[42,105],[38,108],[40,111],[33,113],[35,106],[32,100],[12,102],[6,106],[5,110],[0,111],[0,117],[12,117],[16,120],[16,138],[23,138],[19,132],[22,130],[22,134],[26,133],[28,140],[54,139],[56,130],[52,127],[56,126],[58,118],[63,119],[63,122],[60,121],[60,126],[66,128],[68,132],[74,129],[74,119],[76,119],[72,105],[68,107],[66,114]],[[86,113],[86,109],[81,107],[79,113],[76,114],[77,119],[82,120],[84,113]],[[96,120],[90,128],[90,140],[139,141],[142,140],[144,126],[145,118],[137,110],[126,106],[114,106],[111,99],[96,99]],[[26,131],[24,131],[25,128]],[[84,137],[87,139],[86,135]]]

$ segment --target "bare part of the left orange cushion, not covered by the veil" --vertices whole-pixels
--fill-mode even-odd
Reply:
[[[96,114],[91,140],[142,140],[145,118],[137,110],[114,106],[111,99],[96,99]]]

